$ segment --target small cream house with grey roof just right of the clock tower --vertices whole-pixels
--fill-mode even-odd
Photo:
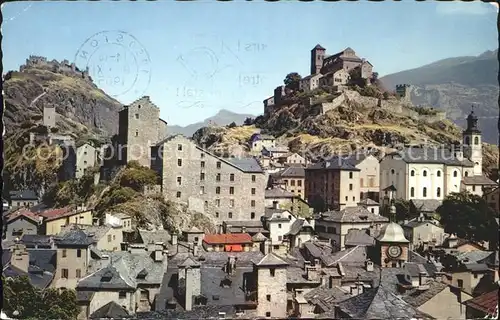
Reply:
[[[405,221],[403,230],[412,250],[420,246],[440,246],[446,237],[443,227],[435,220],[425,220],[424,217]]]

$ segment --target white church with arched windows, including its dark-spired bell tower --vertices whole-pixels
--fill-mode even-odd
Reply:
[[[415,146],[387,154],[380,161],[380,198],[392,189],[394,198],[443,200],[453,192],[468,190],[479,196],[496,183],[482,173],[481,131],[472,110],[462,143],[452,146]]]

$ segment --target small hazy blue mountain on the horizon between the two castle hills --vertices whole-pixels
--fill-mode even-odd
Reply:
[[[203,120],[202,122],[196,122],[185,127],[181,126],[168,126],[169,134],[183,134],[186,137],[191,137],[196,130],[208,126],[210,123],[225,126],[231,123],[236,123],[237,125],[242,125],[246,118],[255,118],[253,114],[240,114],[234,113],[225,109],[220,110],[216,115]]]

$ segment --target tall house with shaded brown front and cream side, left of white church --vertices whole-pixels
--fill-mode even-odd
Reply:
[[[354,207],[360,197],[360,169],[332,157],[305,169],[305,197],[316,212]]]

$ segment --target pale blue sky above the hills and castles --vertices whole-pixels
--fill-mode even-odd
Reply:
[[[29,55],[76,61],[118,101],[149,95],[177,125],[223,108],[262,113],[288,72],[309,73],[318,43],[353,48],[381,76],[498,47],[497,9],[481,2],[50,1],[2,12],[4,70]]]

